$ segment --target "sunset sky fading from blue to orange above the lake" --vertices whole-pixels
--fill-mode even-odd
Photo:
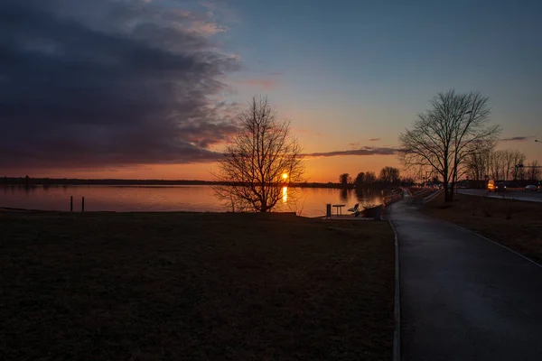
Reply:
[[[267,95],[337,181],[450,88],[542,161],[541,33],[534,1],[0,0],[0,176],[211,180]]]

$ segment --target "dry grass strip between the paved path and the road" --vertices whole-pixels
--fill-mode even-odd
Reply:
[[[442,218],[500,242],[542,264],[542,203],[454,195],[427,203],[422,213]]]

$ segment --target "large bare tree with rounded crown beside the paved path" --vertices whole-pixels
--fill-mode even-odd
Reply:
[[[412,129],[399,135],[400,161],[408,167],[430,166],[444,182],[444,199],[453,200],[454,183],[464,172],[467,157],[477,152],[477,144],[495,143],[499,125],[488,125],[488,98],[478,92],[439,93],[432,108],[418,115]]]

